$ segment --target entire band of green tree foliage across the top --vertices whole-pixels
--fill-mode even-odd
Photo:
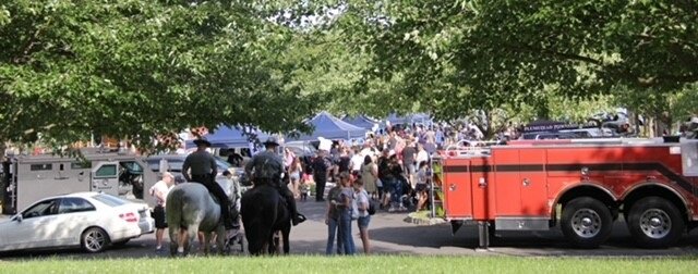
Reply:
[[[7,0],[0,141],[65,144],[96,133],[146,146],[220,123],[303,128],[320,109],[574,121],[601,105],[583,102],[615,92],[638,110],[669,103],[691,113],[684,102],[698,82],[697,5]]]

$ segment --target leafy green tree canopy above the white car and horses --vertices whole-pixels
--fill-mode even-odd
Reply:
[[[190,126],[304,128],[292,33],[243,1],[8,0],[0,4],[0,141],[91,133],[147,145]]]

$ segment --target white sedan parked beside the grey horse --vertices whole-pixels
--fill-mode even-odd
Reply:
[[[0,251],[80,247],[100,252],[153,233],[146,203],[100,192],[41,199],[0,222]]]

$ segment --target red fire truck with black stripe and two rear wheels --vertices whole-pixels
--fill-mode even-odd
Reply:
[[[433,214],[498,231],[547,231],[593,248],[623,215],[641,247],[676,242],[698,221],[698,140],[521,140],[434,158]]]

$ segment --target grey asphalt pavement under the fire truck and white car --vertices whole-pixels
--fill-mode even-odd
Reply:
[[[291,231],[291,253],[324,254],[327,226],[324,224],[325,204],[299,202],[299,209],[309,220]],[[624,223],[617,222],[613,237],[599,249],[580,250],[566,242],[559,229],[545,233],[507,233],[493,239],[489,250],[477,250],[477,228],[462,227],[452,235],[448,224],[414,225],[404,220],[407,213],[377,212],[372,217],[370,234],[373,250],[381,254],[448,254],[448,256],[574,256],[574,257],[665,257],[698,256],[698,229],[691,232],[676,247],[660,250],[638,249],[633,246]],[[361,240],[353,229],[357,249],[362,250]],[[234,248],[239,248],[236,246]],[[167,247],[165,247],[167,249]],[[237,252],[236,252],[237,253]],[[239,254],[239,253],[238,253]],[[155,251],[155,235],[144,235],[123,247],[112,248],[98,254],[80,251],[12,252],[0,253],[0,260],[26,260],[32,258],[143,258],[166,257],[168,252]]]

